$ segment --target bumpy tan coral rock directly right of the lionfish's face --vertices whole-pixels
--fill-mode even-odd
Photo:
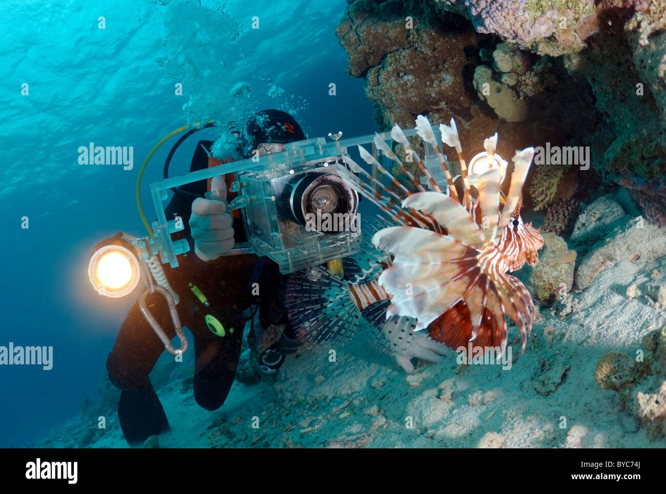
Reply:
[[[577,254],[575,250],[569,250],[567,242],[554,233],[544,233],[543,242],[539,263],[529,271],[526,286],[541,302],[552,304],[559,286],[564,286],[566,292],[571,291]]]

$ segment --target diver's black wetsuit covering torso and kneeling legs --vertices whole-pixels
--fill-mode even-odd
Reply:
[[[202,141],[210,148],[210,141]],[[207,156],[200,145],[196,146],[190,170],[206,168]],[[203,154],[202,154],[203,153]],[[203,194],[205,182],[196,182],[182,187],[194,194]],[[174,194],[166,208],[166,217],[178,213],[185,230],[173,238],[188,238],[187,226],[191,214],[192,196]],[[244,241],[240,220],[234,220],[234,238]],[[190,240],[190,246],[193,242]],[[268,258],[253,254],[223,256],[207,263],[188,255],[178,257],[178,268],[163,264],[166,278],[174,292],[180,296],[178,315],[182,326],[186,326],[194,337],[194,397],[196,402],[208,410],[222,406],[234,381],[247,309],[258,304],[260,322],[282,324],[286,314],[282,308],[284,279],[277,264]],[[206,295],[209,307],[199,302],[188,283],[192,282]],[[252,295],[252,282],[258,282],[260,296]],[[147,306],[165,330],[169,338],[175,336],[166,301],[159,294],[150,294]],[[224,337],[212,333],[204,316],[211,314],[226,330]],[[234,328],[231,334],[228,330]],[[149,379],[149,373],[165,348],[139,310],[139,303],[132,306],[113,350],[107,360],[111,383],[121,389],[118,415],[125,439],[129,443],[144,441],[150,435],[168,429],[168,421],[162,404]],[[190,350],[191,352],[191,342]]]

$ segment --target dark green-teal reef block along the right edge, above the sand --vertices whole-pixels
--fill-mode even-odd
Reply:
[[[665,13],[666,2],[653,0],[629,19],[609,18],[615,31],[597,33],[589,48],[565,57],[569,70],[587,79],[605,117],[593,167],[626,186],[660,226],[666,226]]]

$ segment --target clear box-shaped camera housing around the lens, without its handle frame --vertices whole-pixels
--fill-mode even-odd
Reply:
[[[238,172],[230,207],[242,207],[250,245],[227,255],[250,249],[292,272],[358,252],[358,194],[336,174],[344,154],[282,164]]]

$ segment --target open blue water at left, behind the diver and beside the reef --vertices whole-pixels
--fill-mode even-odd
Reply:
[[[143,234],[134,185],[157,140],[188,120],[253,106],[294,113],[310,137],[376,130],[362,79],[344,72],[334,35],[344,7],[344,0],[251,7],[240,0],[224,9],[198,0],[0,2],[0,346],[53,346],[52,370],[0,366],[0,447],[23,445],[78,413],[86,397],[99,398],[133,300],[99,297],[87,261],[110,234]],[[182,96],[174,94],[178,82]],[[240,82],[252,97],[229,96]],[[283,95],[270,97],[272,86]],[[79,165],[77,149],[89,142],[134,146],[133,170]],[[147,184],[161,178],[169,147],[143,179],[149,218]],[[191,152],[176,154],[174,173],[186,171]]]

